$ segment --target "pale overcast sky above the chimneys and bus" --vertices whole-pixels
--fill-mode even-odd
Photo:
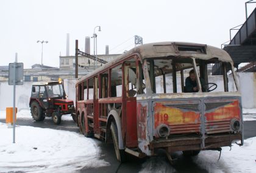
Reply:
[[[97,32],[98,54],[105,53],[106,44],[110,53],[131,49],[134,35],[143,37],[144,43],[186,41],[220,47],[229,40],[229,29],[245,21],[244,2],[1,0],[0,66],[12,63],[15,52],[25,68],[40,64],[41,44],[37,40],[47,40],[43,64],[59,67],[60,52],[66,55],[66,33],[70,34],[69,54],[74,55],[75,39],[79,40],[79,49],[84,50],[85,36],[93,35],[96,25],[102,27]],[[254,4],[249,4],[248,12],[254,8]]]

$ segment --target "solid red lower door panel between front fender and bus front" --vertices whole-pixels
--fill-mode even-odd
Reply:
[[[126,146],[133,148],[138,146],[137,136],[137,103],[127,101],[126,103]]]

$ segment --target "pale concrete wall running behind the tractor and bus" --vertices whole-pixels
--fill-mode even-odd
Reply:
[[[256,73],[238,73],[239,83],[241,86],[242,101],[244,108],[256,108]],[[185,80],[185,78],[184,78]],[[64,88],[68,99],[76,100],[76,79],[64,80]],[[162,78],[156,80],[159,84],[157,91],[161,92],[163,83]],[[209,82],[218,84],[216,91],[224,91],[222,76],[210,76]],[[166,77],[166,83],[172,83],[172,77]],[[29,98],[31,93],[32,82],[26,82],[23,86],[16,86],[16,107],[19,110],[29,109]],[[235,84],[232,76],[229,76],[229,91],[235,90]],[[172,92],[172,86],[167,88],[167,91]],[[177,92],[181,92],[180,78],[177,77]],[[5,107],[13,106],[13,86],[9,86],[8,82],[0,83],[0,110],[5,110]]]

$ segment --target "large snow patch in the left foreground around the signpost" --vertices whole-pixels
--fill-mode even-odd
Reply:
[[[0,123],[0,172],[76,172],[84,167],[109,165],[99,160],[96,141],[75,132],[16,127],[16,143],[12,128]]]

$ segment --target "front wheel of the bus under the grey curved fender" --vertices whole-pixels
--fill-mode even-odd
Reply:
[[[117,158],[118,161],[123,163],[123,162],[126,161],[126,153],[124,152],[124,149],[119,149],[118,131],[117,131],[115,123],[113,123],[113,122],[111,123],[110,131],[112,133],[112,139],[113,139],[113,143],[114,143],[114,146],[115,146],[116,158]]]

